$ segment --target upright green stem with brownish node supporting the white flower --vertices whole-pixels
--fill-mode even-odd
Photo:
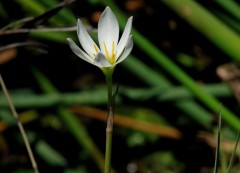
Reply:
[[[114,115],[114,98],[112,95],[112,70],[105,74],[108,93],[108,119],[106,128],[106,150],[105,150],[105,173],[111,172],[111,155],[112,155],[112,132],[113,132],[113,115]]]

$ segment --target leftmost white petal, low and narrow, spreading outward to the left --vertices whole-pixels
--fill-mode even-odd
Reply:
[[[87,55],[84,51],[82,51],[71,38],[67,38],[68,44],[72,51],[81,59],[93,64],[93,59]]]

